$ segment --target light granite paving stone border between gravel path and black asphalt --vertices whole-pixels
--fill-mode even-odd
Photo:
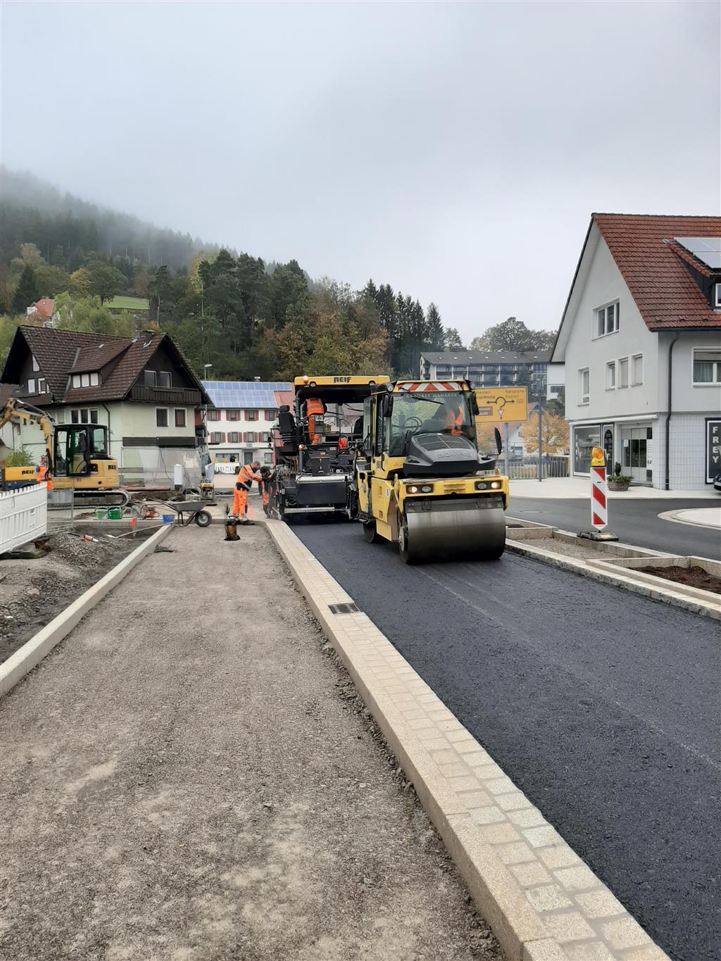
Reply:
[[[331,610],[354,599],[292,530],[266,528],[509,961],[665,959],[367,615]]]

